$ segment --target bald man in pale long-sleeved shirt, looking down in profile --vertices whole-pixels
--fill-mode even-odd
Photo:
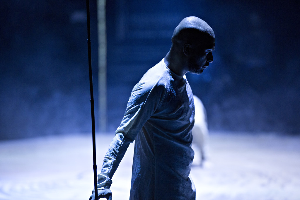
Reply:
[[[198,17],[184,18],[175,28],[166,57],[131,92],[98,174],[98,198],[112,199],[113,174],[135,140],[130,199],[195,199],[189,176],[194,102],[185,74],[201,74],[212,63],[214,43],[214,31]]]

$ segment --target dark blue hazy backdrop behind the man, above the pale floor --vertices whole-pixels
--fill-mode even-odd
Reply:
[[[298,1],[295,1],[298,2]],[[215,131],[300,133],[299,3],[107,1],[108,132],[186,16],[208,22],[214,62],[187,74]],[[97,10],[91,40],[98,131]],[[0,1],[0,139],[90,133],[85,1]]]

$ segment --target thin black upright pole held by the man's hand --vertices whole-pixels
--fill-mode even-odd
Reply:
[[[93,93],[93,76],[91,63],[91,25],[90,25],[90,3],[86,0],[86,19],[88,24],[88,71],[90,76],[90,92],[91,92],[91,117],[92,117],[92,136],[93,136],[93,169],[94,169],[94,184],[95,184],[95,199],[98,199],[97,189],[97,165],[96,165],[96,133],[95,133],[95,110],[94,110],[94,93]]]

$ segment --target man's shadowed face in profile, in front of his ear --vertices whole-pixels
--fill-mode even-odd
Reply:
[[[188,69],[190,73],[201,74],[203,70],[212,63],[214,58],[212,51],[214,50],[215,40],[211,38],[205,44],[199,44],[192,47],[191,55],[188,60]]]

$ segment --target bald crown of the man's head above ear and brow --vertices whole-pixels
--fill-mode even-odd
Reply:
[[[182,19],[175,28],[172,43],[173,44],[202,44],[214,39],[214,31],[202,19],[198,17],[186,17]]]

